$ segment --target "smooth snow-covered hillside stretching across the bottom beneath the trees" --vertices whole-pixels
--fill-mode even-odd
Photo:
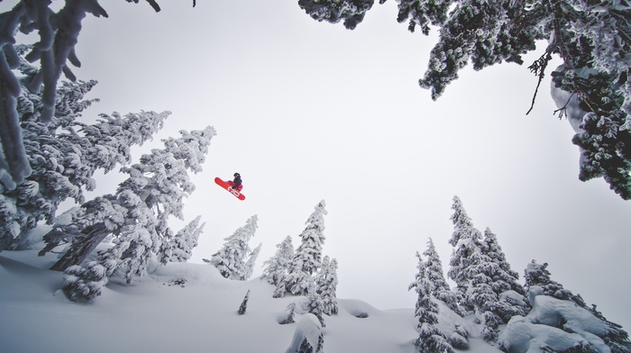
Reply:
[[[0,253],[1,351],[278,353],[288,351],[297,330],[310,327],[312,315],[300,310],[304,297],[275,299],[274,286],[266,281],[228,280],[208,265],[170,263],[133,285],[111,281],[93,303],[71,303],[59,290],[63,274],[47,269],[55,260],[50,254],[38,257],[36,249]],[[238,315],[248,291],[247,311]],[[338,302],[339,313],[325,316],[325,352],[416,351],[414,303],[410,309],[380,311],[361,300]],[[298,303],[296,322],[280,324],[290,303]],[[500,341],[511,352],[599,341],[592,333],[603,327],[586,320],[583,309],[547,296],[536,303],[541,305],[501,331]],[[471,317],[462,319],[440,305],[439,321],[444,328],[463,326],[470,333],[471,353],[500,351],[477,337],[480,328]],[[563,324],[575,333],[551,327]],[[313,332],[306,336],[313,338]]]

